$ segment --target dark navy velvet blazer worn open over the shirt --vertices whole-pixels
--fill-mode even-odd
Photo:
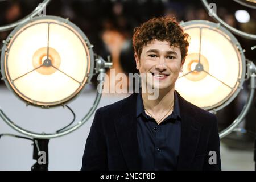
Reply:
[[[86,140],[81,170],[140,170],[136,133],[137,94],[98,109]],[[218,121],[214,114],[177,93],[181,114],[178,170],[221,170]],[[209,154],[215,151],[216,155]],[[214,162],[216,157],[216,164]]]

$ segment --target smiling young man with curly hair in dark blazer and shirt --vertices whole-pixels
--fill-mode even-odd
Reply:
[[[150,75],[142,87],[156,80],[158,97],[133,93],[98,109],[82,170],[221,170],[217,118],[175,90],[187,39],[172,18],[153,18],[135,28],[137,69]]]

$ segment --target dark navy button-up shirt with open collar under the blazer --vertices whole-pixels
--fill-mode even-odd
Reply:
[[[176,170],[179,158],[181,117],[176,91],[174,110],[160,125],[144,111],[141,92],[137,97],[137,138],[142,170]]]

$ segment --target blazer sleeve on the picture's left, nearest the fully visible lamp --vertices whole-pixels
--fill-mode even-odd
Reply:
[[[84,156],[82,157],[81,171],[108,170],[108,157],[106,152],[106,140],[102,128],[102,114],[98,109],[95,113],[90,133],[86,140]]]

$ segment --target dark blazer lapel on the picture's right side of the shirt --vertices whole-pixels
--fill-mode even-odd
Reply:
[[[181,115],[181,140],[178,160],[178,170],[188,170],[193,158],[197,144],[199,142],[201,125],[196,121],[193,110],[187,101],[179,96],[180,115]]]

